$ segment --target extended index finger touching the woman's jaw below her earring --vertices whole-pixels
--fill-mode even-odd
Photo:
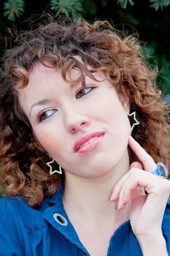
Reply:
[[[128,144],[143,163],[145,171],[152,173],[157,169],[156,163],[153,161],[153,158],[149,154],[147,154],[147,152],[139,145],[139,143],[137,143],[137,141],[134,140],[130,135]]]

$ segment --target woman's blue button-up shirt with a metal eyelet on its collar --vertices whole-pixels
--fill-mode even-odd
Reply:
[[[39,209],[31,208],[23,198],[0,200],[0,256],[90,256],[64,210],[63,192],[62,184]],[[162,233],[170,255],[170,201]],[[108,256],[136,255],[142,256],[142,251],[127,221],[111,237]]]

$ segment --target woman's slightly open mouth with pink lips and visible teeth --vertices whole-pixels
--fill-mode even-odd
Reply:
[[[74,144],[74,152],[85,153],[94,149],[102,140],[103,132],[94,132],[79,138]]]

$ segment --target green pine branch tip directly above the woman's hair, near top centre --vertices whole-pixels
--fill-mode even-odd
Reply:
[[[50,6],[51,10],[56,12],[56,16],[59,14],[69,16],[71,14],[81,17],[80,12],[83,11],[82,0],[51,0]]]

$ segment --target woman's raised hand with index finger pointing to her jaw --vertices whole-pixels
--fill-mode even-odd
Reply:
[[[152,174],[157,168],[156,163],[131,136],[128,144],[143,163],[144,170],[140,163],[133,162],[130,171],[116,184],[111,201],[119,199],[118,208],[122,210],[131,199],[130,224],[140,241],[153,234],[162,234],[161,223],[170,194],[170,181]]]

